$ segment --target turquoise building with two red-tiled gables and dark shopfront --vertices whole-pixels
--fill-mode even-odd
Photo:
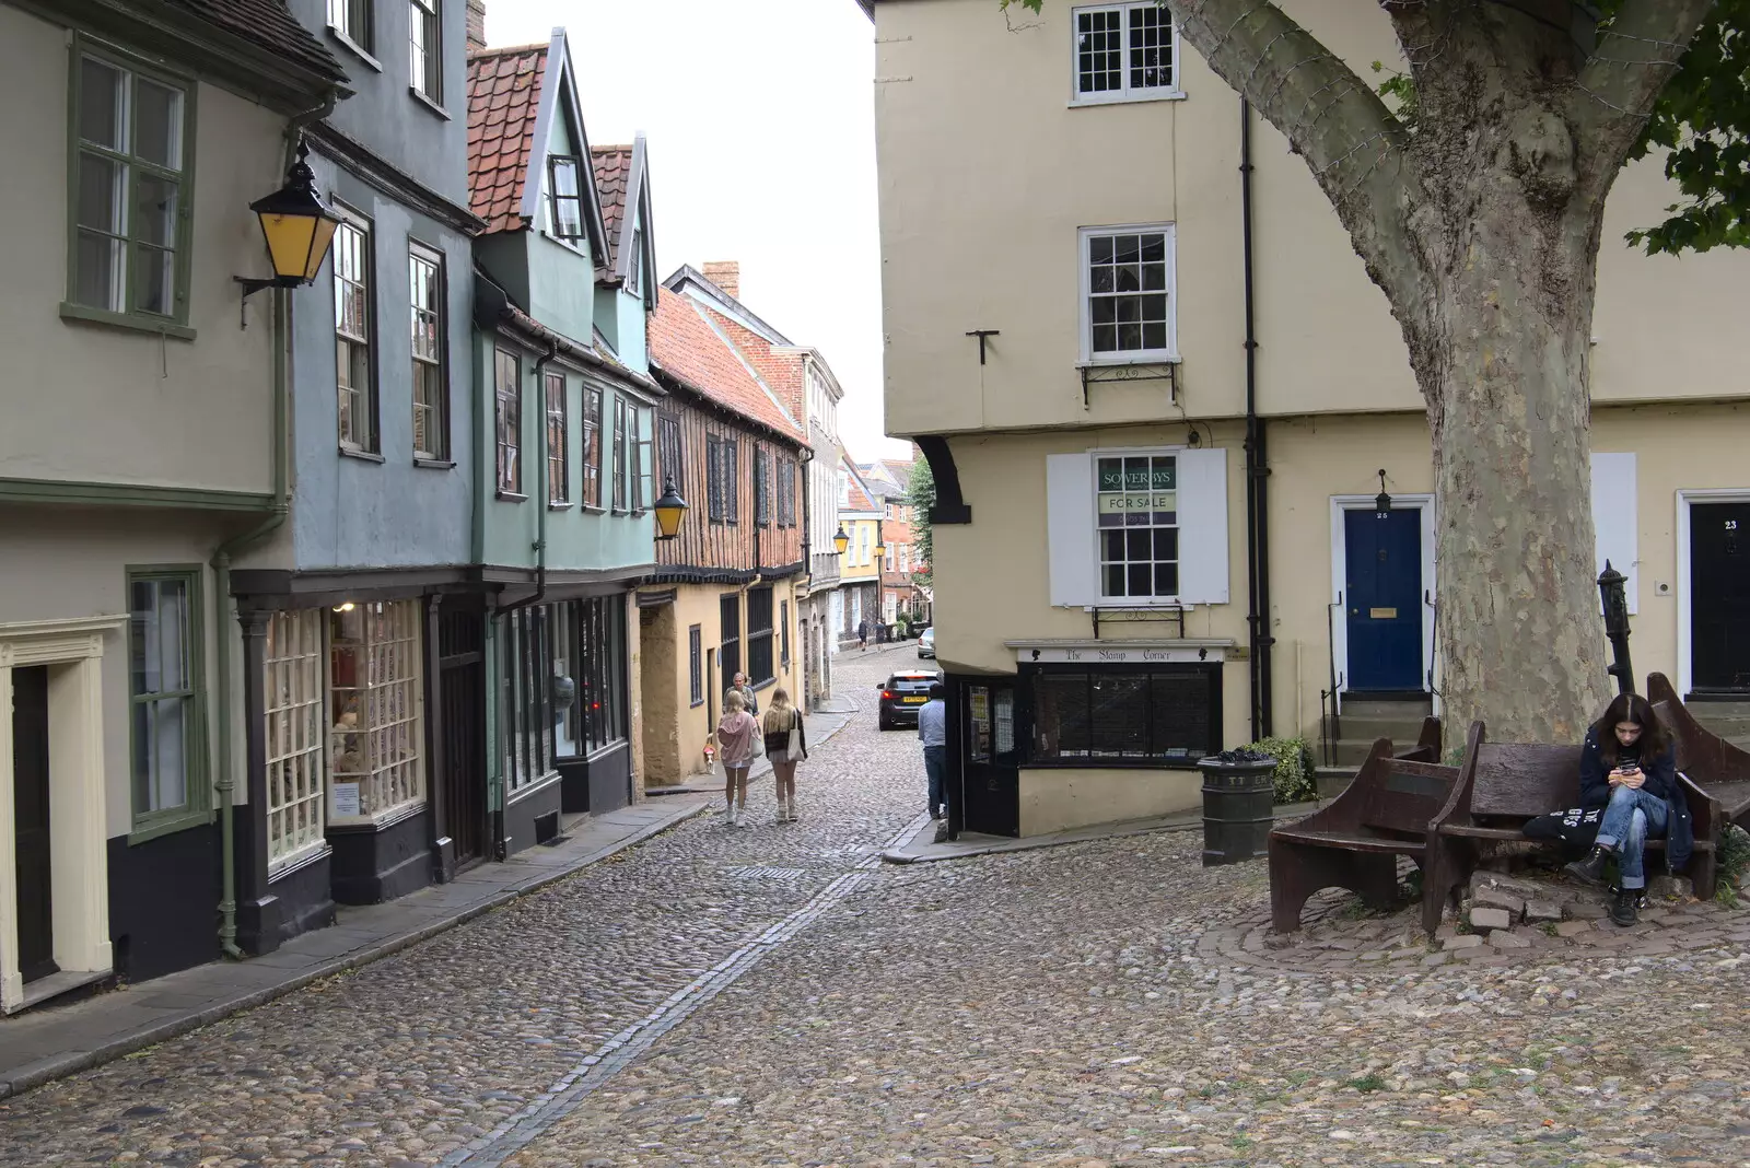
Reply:
[[[472,560],[499,855],[635,797],[632,587],[654,561],[656,302],[646,143],[592,150],[569,42],[469,56]],[[480,813],[476,803],[474,815]]]

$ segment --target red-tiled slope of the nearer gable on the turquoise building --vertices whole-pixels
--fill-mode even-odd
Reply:
[[[520,231],[546,45],[486,49],[467,58],[467,192],[486,231]]]

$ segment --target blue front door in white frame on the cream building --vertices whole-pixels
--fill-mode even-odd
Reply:
[[[1421,512],[1372,509],[1342,512],[1349,622],[1349,677],[1354,689],[1421,689]]]

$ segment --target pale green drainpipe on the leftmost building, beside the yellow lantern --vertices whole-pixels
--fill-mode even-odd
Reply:
[[[304,110],[285,124],[285,166],[290,170],[298,163],[298,145],[303,142],[303,129],[322,121],[334,112],[338,94],[329,93],[322,105]],[[292,294],[290,289],[273,290],[273,502],[268,505],[268,518],[259,525],[234,535],[214,549],[214,587],[219,593],[217,656],[219,685],[214,687],[214,720],[219,726],[219,949],[231,958],[243,958],[236,948],[236,780],[231,775],[231,556],[254,547],[273,532],[285,526],[290,511],[290,486],[287,474],[287,434],[290,432],[289,385],[292,374]]]

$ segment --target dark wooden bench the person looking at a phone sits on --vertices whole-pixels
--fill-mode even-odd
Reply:
[[[1423,867],[1423,923],[1438,925],[1442,906],[1470,879],[1479,859],[1498,843],[1524,843],[1524,825],[1549,811],[1580,806],[1580,747],[1491,743],[1480,722],[1472,726],[1465,780],[1437,815]],[[1694,780],[1678,776],[1696,827],[1689,873],[1699,895],[1713,893],[1713,839],[1720,804]],[[1535,843],[1558,843],[1538,839]],[[1648,859],[1664,839],[1647,839]],[[1433,928],[1430,927],[1430,932]]]

